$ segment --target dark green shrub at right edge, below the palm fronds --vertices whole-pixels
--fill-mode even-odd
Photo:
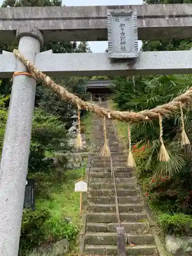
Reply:
[[[153,208],[162,212],[192,214],[192,174],[189,168],[171,179],[160,177],[147,185],[146,196]]]

